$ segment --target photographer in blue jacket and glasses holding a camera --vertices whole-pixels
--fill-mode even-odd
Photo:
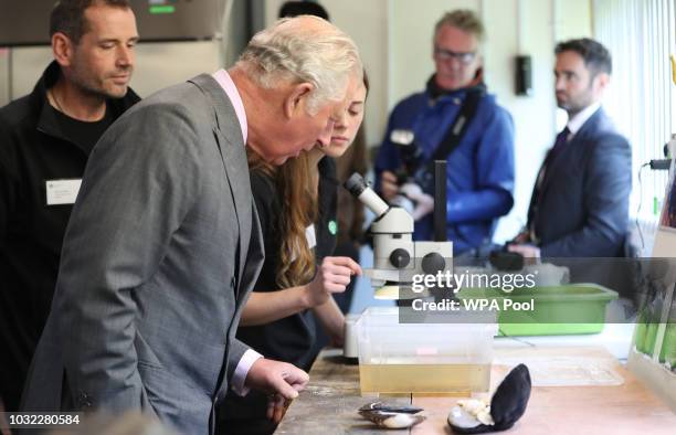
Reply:
[[[394,107],[376,159],[376,188],[391,203],[410,201],[415,240],[432,238],[432,163],[447,160],[455,255],[489,244],[497,219],[514,204],[514,124],[482,81],[483,38],[472,11],[448,12],[436,23],[436,72],[424,92]]]

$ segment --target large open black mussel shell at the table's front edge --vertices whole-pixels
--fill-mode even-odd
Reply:
[[[478,424],[474,427],[458,427],[451,422],[451,428],[457,434],[483,434],[506,431],[521,418],[530,399],[530,373],[528,368],[519,364],[511,369],[498,385],[490,400],[490,416],[494,425]]]

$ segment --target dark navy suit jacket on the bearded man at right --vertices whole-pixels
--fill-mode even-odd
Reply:
[[[545,172],[532,217],[541,255],[621,255],[631,190],[630,145],[600,108]]]

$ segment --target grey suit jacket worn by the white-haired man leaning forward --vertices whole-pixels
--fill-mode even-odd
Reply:
[[[240,125],[209,75],[160,91],[96,145],[23,409],[141,409],[212,432],[247,347],[263,263]]]

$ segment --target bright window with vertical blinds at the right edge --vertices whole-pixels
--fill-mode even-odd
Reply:
[[[644,236],[655,232],[668,174],[641,167],[663,158],[664,145],[676,132],[676,84],[669,60],[676,55],[675,22],[674,0],[593,1],[594,35],[613,55],[604,107],[632,144],[630,213]],[[646,240],[646,255],[649,244]]]

